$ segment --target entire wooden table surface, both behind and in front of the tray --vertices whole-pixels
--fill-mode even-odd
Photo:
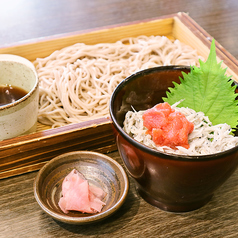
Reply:
[[[0,47],[180,11],[238,58],[237,0],[2,0]],[[121,162],[117,151],[109,155]],[[57,222],[41,210],[33,195],[36,174],[0,180],[0,237],[238,237],[238,171],[207,205],[181,214],[146,203],[130,179],[121,209],[84,226]]]

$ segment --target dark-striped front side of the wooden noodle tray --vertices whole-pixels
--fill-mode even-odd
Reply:
[[[111,120],[102,118],[0,141],[0,179],[35,171],[62,153],[116,149]]]

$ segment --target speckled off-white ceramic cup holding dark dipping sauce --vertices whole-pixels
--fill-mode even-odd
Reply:
[[[36,130],[39,83],[34,65],[27,59],[0,54],[0,86],[11,85],[26,91],[26,95],[0,106],[0,140]]]

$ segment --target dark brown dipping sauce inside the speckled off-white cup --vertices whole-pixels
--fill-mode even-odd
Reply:
[[[27,91],[12,85],[0,85],[0,106],[13,103],[24,97]]]

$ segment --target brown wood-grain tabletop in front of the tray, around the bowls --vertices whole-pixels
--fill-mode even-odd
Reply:
[[[109,156],[122,164],[118,152]],[[0,180],[0,237],[238,237],[238,171],[207,205],[177,214],[146,203],[130,178],[119,211],[83,226],[58,222],[41,210],[33,195],[36,173]]]

